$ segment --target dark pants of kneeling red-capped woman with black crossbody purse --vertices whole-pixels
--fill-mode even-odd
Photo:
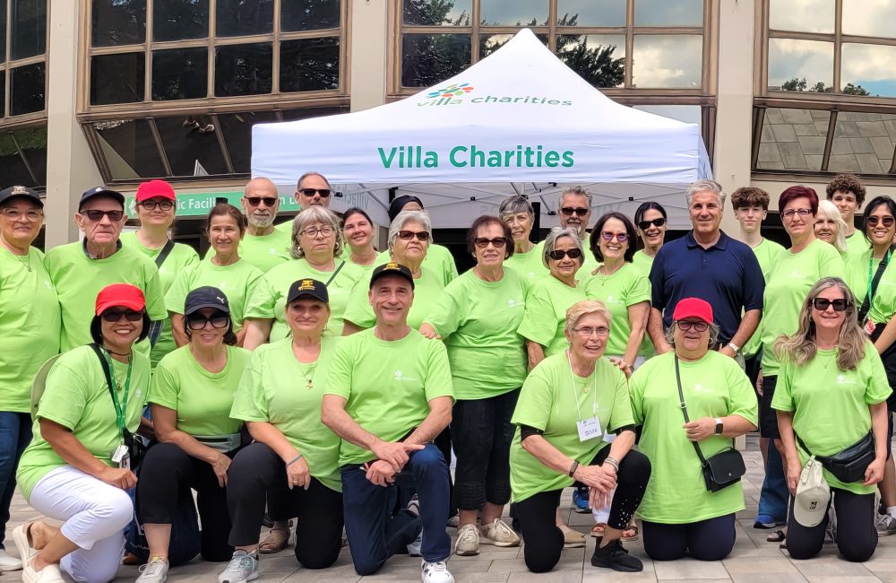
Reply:
[[[642,520],[641,525],[644,552],[654,561],[676,561],[688,552],[698,561],[721,561],[731,553],[737,537],[734,513],[679,525],[648,520]]]

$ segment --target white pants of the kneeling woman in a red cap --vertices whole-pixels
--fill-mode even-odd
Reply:
[[[115,579],[125,551],[125,526],[134,517],[134,504],[124,490],[63,466],[45,475],[28,501],[47,517],[65,520],[62,534],[81,547],[60,564],[72,579],[77,583]]]

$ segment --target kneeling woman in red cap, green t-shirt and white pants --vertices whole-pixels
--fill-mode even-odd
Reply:
[[[134,285],[103,288],[90,323],[93,344],[38,373],[34,439],[17,479],[31,507],[64,523],[13,531],[26,583],[62,583],[60,568],[76,581],[116,576],[134,514],[125,492],[137,483],[129,446],[150,384],[149,358],[133,350],[150,332],[145,303]]]

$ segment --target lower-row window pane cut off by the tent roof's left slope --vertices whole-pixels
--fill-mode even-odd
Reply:
[[[469,34],[406,34],[401,39],[401,85],[428,87],[470,66]]]

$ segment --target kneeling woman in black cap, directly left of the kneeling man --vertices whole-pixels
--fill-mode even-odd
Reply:
[[[230,466],[228,507],[236,547],[219,580],[257,577],[258,533],[265,497],[298,517],[296,559],[306,569],[326,569],[342,541],[340,439],[321,422],[321,401],[339,337],[324,336],[330,319],[326,286],[302,279],[289,287],[286,321],[291,337],[259,346],[239,384],[230,411],[246,422],[254,443]],[[298,381],[298,382],[297,382]],[[285,508],[283,508],[285,505]]]

